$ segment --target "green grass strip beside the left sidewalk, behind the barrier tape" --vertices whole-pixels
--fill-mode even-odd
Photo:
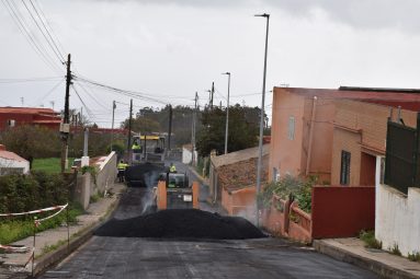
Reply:
[[[69,222],[76,222],[77,217],[82,214],[84,210],[79,205],[71,205],[69,209]],[[45,213],[46,216],[52,214]],[[46,216],[38,216],[38,219],[46,217]],[[36,228],[36,232],[46,231],[48,229],[57,228],[61,224],[66,224],[66,210],[64,210],[58,216],[46,220],[41,223],[38,228]],[[5,245],[13,243],[15,241],[25,239],[27,236],[31,236],[34,234],[34,221],[30,218],[25,218],[25,220],[22,219],[14,219],[14,220],[8,220],[0,223],[0,243]]]

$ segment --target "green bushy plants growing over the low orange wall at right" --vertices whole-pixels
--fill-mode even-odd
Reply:
[[[317,179],[316,176],[310,176],[307,179],[304,179],[286,175],[279,182],[265,184],[263,190],[258,196],[259,202],[263,207],[270,208],[272,205],[272,197],[273,195],[276,195],[282,199],[291,198],[296,200],[302,210],[310,213],[311,190],[317,183]]]

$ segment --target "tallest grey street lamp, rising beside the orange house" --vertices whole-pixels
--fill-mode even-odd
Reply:
[[[269,45],[269,25],[270,25],[270,14],[263,13],[263,14],[256,14],[256,16],[261,16],[266,19],[266,32],[265,32],[265,55],[264,55],[264,74],[263,74],[263,81],[262,81],[262,103],[261,103],[261,117],[260,117],[260,141],[258,147],[258,167],[257,167],[257,195],[260,194],[261,190],[261,164],[262,164],[262,136],[263,136],[263,129],[264,129],[264,98],[265,98],[265,77],[266,77],[266,53],[268,53],[268,45]],[[260,225],[260,205],[257,199],[257,226]]]

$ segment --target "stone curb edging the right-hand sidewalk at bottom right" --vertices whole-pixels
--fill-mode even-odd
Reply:
[[[361,255],[342,249],[340,247],[336,247],[333,245],[325,243],[321,240],[314,240],[313,246],[317,252],[321,254],[328,255],[344,263],[362,267],[364,269],[372,270],[373,272],[379,275],[383,278],[420,279],[420,277],[416,275],[409,274],[401,269],[394,268],[381,261],[363,257]]]

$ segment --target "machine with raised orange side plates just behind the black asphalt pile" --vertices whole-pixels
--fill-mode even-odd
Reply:
[[[198,208],[198,183],[190,185],[185,173],[161,173],[154,190],[158,210]]]

